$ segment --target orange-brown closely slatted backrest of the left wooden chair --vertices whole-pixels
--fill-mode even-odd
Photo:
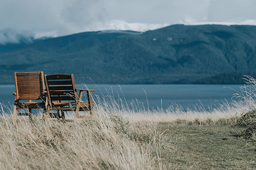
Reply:
[[[38,100],[46,97],[43,71],[14,73],[16,100]]]

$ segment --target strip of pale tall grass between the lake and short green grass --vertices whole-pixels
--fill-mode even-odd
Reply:
[[[120,88],[121,90],[121,88]],[[121,90],[122,92],[122,90]],[[234,91],[235,93],[236,91]],[[237,95],[237,94],[236,94]],[[119,95],[118,95],[119,96]],[[246,100],[222,101],[212,107],[205,108],[202,105],[195,105],[192,108],[183,108],[181,105],[172,103],[167,109],[156,108],[148,109],[144,107],[137,99],[131,103],[123,101],[121,97],[115,99],[114,95],[108,94],[105,97],[93,96],[96,101],[96,109],[101,112],[118,113],[123,117],[129,117],[133,121],[150,121],[150,122],[177,122],[180,120],[205,122],[211,120],[213,123],[220,119],[228,120],[230,118],[240,116],[250,106]],[[237,96],[234,96],[237,97]],[[125,100],[125,97],[123,97]]]

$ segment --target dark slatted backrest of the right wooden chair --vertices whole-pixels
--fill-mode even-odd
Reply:
[[[77,92],[73,74],[44,75],[49,104],[55,101],[77,102]]]

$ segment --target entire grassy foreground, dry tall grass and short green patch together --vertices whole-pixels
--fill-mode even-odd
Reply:
[[[129,109],[111,97],[67,123],[14,121],[2,109],[0,169],[255,169],[251,87],[237,94],[240,103],[210,112]]]

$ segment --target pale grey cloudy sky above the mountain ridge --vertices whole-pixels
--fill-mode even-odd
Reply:
[[[144,32],[172,24],[256,25],[254,0],[0,0],[0,3],[0,31],[36,37],[106,29]],[[0,32],[0,42],[3,39],[6,36]]]

